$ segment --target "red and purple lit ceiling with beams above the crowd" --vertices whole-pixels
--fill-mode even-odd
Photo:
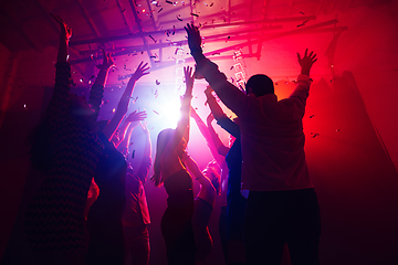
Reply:
[[[145,53],[151,67],[175,64],[176,47],[186,44],[184,25],[201,26],[212,53],[237,50],[261,41],[304,31],[334,31],[337,21],[318,15],[350,8],[377,6],[377,0],[14,0],[0,8],[1,43],[11,52],[43,52],[56,45],[59,26],[50,17],[63,18],[73,29],[71,63],[98,56],[98,49],[114,56]],[[339,29],[344,29],[339,28]],[[338,30],[338,29],[337,29]],[[260,40],[260,42],[259,42]],[[237,46],[239,45],[239,46]],[[101,54],[100,54],[101,55]],[[248,56],[261,57],[253,45]]]

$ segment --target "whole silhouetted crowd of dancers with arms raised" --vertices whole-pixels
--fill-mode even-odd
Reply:
[[[245,91],[229,83],[203,55],[198,28],[187,24],[196,71],[184,67],[181,116],[176,128],[158,134],[153,165],[147,114],[126,115],[136,82],[149,74],[147,64],[137,66],[112,119],[97,120],[113,59],[103,52],[88,102],[71,94],[72,30],[52,17],[61,26],[54,92],[31,137],[32,167],[46,178],[24,215],[36,264],[117,265],[128,257],[132,264],[147,265],[150,216],[144,184],[151,166],[151,181],[168,195],[161,222],[153,225],[161,229],[169,265],[205,263],[213,246],[208,224],[218,195],[226,264],[279,265],[285,244],[291,264],[320,264],[320,206],[306,168],[302,124],[316,54],[297,53],[302,71],[296,87],[277,100],[264,74],[251,76]],[[206,123],[191,107],[198,77],[209,84],[205,95],[211,114]],[[216,95],[237,118],[223,113]],[[190,118],[213,157],[203,170],[187,151]],[[213,120],[230,134],[229,146]],[[128,147],[137,127],[145,142],[142,165],[133,170]],[[200,187],[196,197],[193,180]]]

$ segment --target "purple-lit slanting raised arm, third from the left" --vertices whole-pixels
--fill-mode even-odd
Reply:
[[[122,119],[124,118],[124,116],[127,113],[128,104],[129,104],[130,98],[132,98],[132,94],[133,94],[135,83],[142,76],[149,74],[149,72],[147,72],[149,70],[149,67],[147,65],[148,65],[147,63],[144,64],[144,62],[140,62],[140,64],[138,65],[136,72],[133,74],[133,76],[128,81],[126,89],[123,93],[119,103],[117,104],[117,109],[116,109],[116,113],[115,113],[114,117],[111,119],[111,121],[107,124],[107,126],[103,130],[104,135],[108,139],[112,139],[113,135],[115,134],[116,128],[118,127]]]

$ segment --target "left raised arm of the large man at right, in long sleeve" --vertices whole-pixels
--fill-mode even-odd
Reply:
[[[187,24],[185,29],[188,34],[191,55],[197,63],[197,70],[209,82],[223,104],[238,116],[242,115],[248,104],[247,95],[227,81],[227,76],[218,70],[217,64],[205,57],[198,28],[193,24]]]

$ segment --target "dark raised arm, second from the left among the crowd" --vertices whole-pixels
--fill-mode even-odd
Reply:
[[[100,114],[100,106],[104,97],[104,87],[106,84],[109,68],[114,66],[114,61],[109,53],[105,53],[103,50],[103,64],[101,65],[100,73],[90,91],[88,104],[94,109],[94,121],[97,120]]]

